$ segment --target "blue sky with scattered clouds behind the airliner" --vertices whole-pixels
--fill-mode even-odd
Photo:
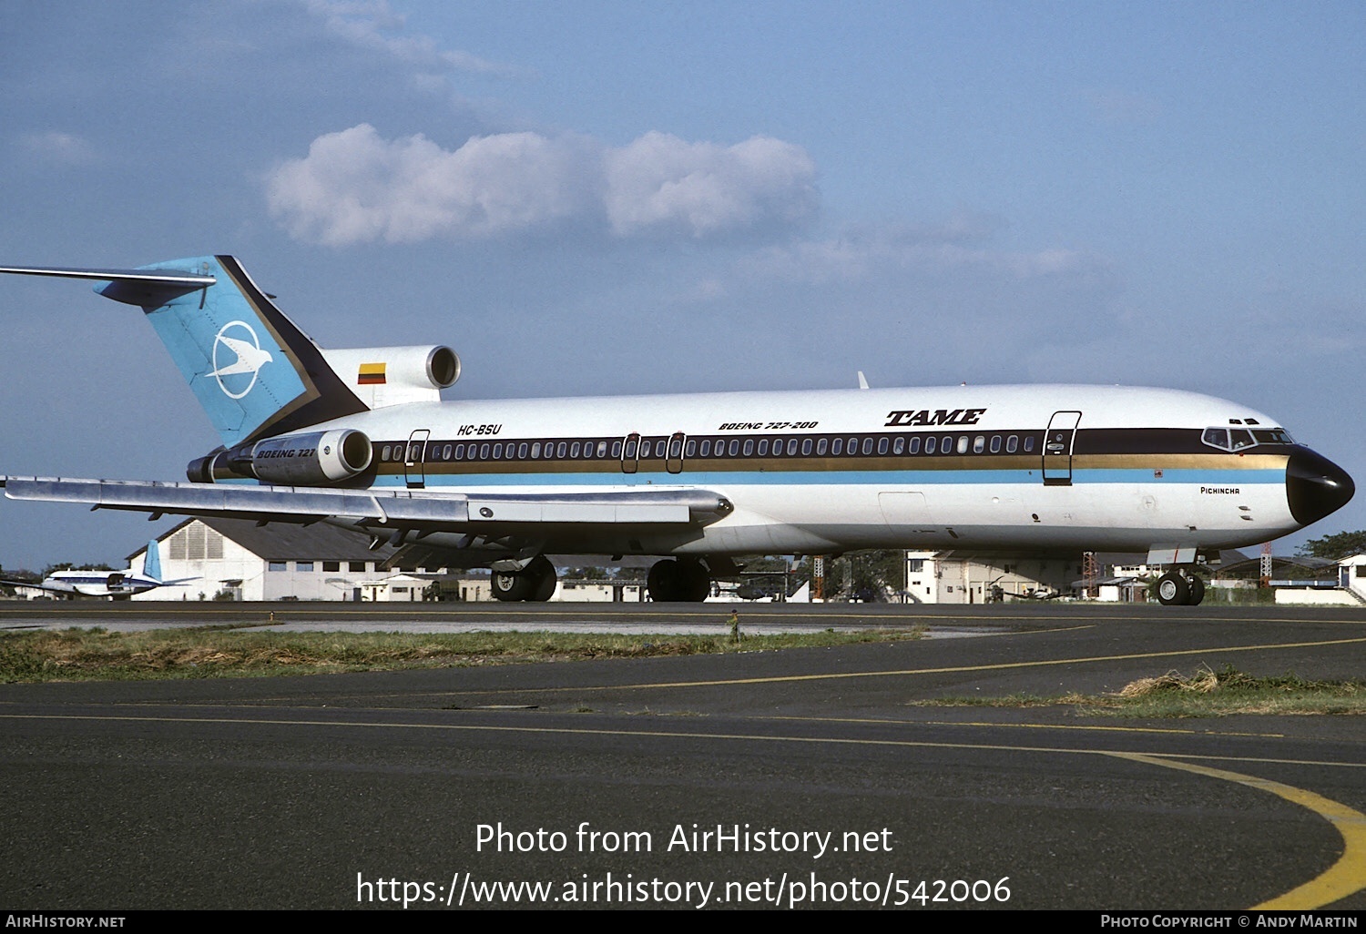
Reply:
[[[0,265],[231,253],[325,347],[454,347],[447,399],[1191,389],[1361,483],[1363,40],[1355,1],[0,0]],[[217,444],[141,317],[0,277],[0,472]],[[0,501],[0,567],[171,523]]]

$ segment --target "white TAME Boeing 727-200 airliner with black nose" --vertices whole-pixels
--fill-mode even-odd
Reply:
[[[87,279],[141,306],[223,447],[189,483],[4,478],[14,500],[331,522],[395,563],[489,567],[546,599],[545,554],[658,556],[702,599],[739,554],[862,548],[1146,550],[1164,604],[1193,565],[1318,522],[1355,486],[1276,419],[1171,389],[1083,385],[441,401],[448,347],[322,350],[228,255]]]

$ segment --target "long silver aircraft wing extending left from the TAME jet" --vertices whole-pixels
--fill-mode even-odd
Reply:
[[[309,524],[350,519],[362,527],[485,533],[530,531],[549,524],[708,526],[727,516],[729,500],[709,490],[601,493],[488,493],[437,490],[163,483],[156,481],[0,477],[11,500],[83,503],[178,516],[225,516]]]

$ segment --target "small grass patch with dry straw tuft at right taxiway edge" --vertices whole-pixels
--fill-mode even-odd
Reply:
[[[1168,672],[1142,677],[1115,694],[1000,698],[941,698],[912,706],[1071,706],[1079,714],[1112,717],[1225,717],[1228,714],[1362,714],[1366,681],[1314,681],[1295,673],[1254,677],[1233,666],[1201,666],[1190,677]]]

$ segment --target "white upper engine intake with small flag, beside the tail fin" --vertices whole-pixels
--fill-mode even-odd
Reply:
[[[357,347],[322,356],[370,408],[438,401],[460,378],[460,358],[449,347]]]

